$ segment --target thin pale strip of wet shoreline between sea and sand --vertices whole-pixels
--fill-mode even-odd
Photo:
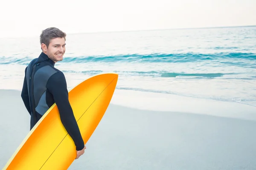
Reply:
[[[21,99],[21,91],[17,89],[0,89],[1,93],[15,93]],[[116,89],[110,105],[139,111],[158,111],[200,114],[234,119],[256,121],[256,107],[237,102],[200,99],[175,94],[159,94]],[[25,106],[24,106],[25,107]]]

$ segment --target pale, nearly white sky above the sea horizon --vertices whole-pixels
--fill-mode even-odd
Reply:
[[[256,0],[2,0],[0,37],[256,25]]]

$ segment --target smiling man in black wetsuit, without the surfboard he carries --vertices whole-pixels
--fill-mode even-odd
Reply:
[[[25,69],[21,97],[29,114],[30,130],[44,113],[56,103],[61,122],[76,145],[79,158],[86,149],[79,127],[68,100],[67,82],[64,74],[54,67],[63,60],[66,34],[58,28],[47,28],[40,36],[42,52]]]

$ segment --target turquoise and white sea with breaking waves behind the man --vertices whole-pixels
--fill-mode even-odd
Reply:
[[[21,89],[41,53],[39,36],[0,39],[0,88]],[[175,94],[256,106],[256,26],[68,34],[56,64],[68,88],[119,74],[117,90]]]

